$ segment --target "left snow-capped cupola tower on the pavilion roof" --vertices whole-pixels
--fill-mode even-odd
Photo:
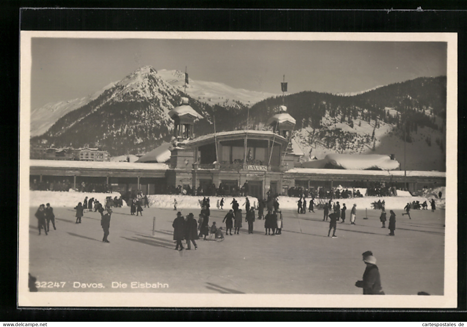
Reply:
[[[169,116],[174,121],[174,136],[177,140],[193,138],[193,124],[196,119],[203,118],[188,104],[188,98],[182,98],[180,106],[170,110]]]

